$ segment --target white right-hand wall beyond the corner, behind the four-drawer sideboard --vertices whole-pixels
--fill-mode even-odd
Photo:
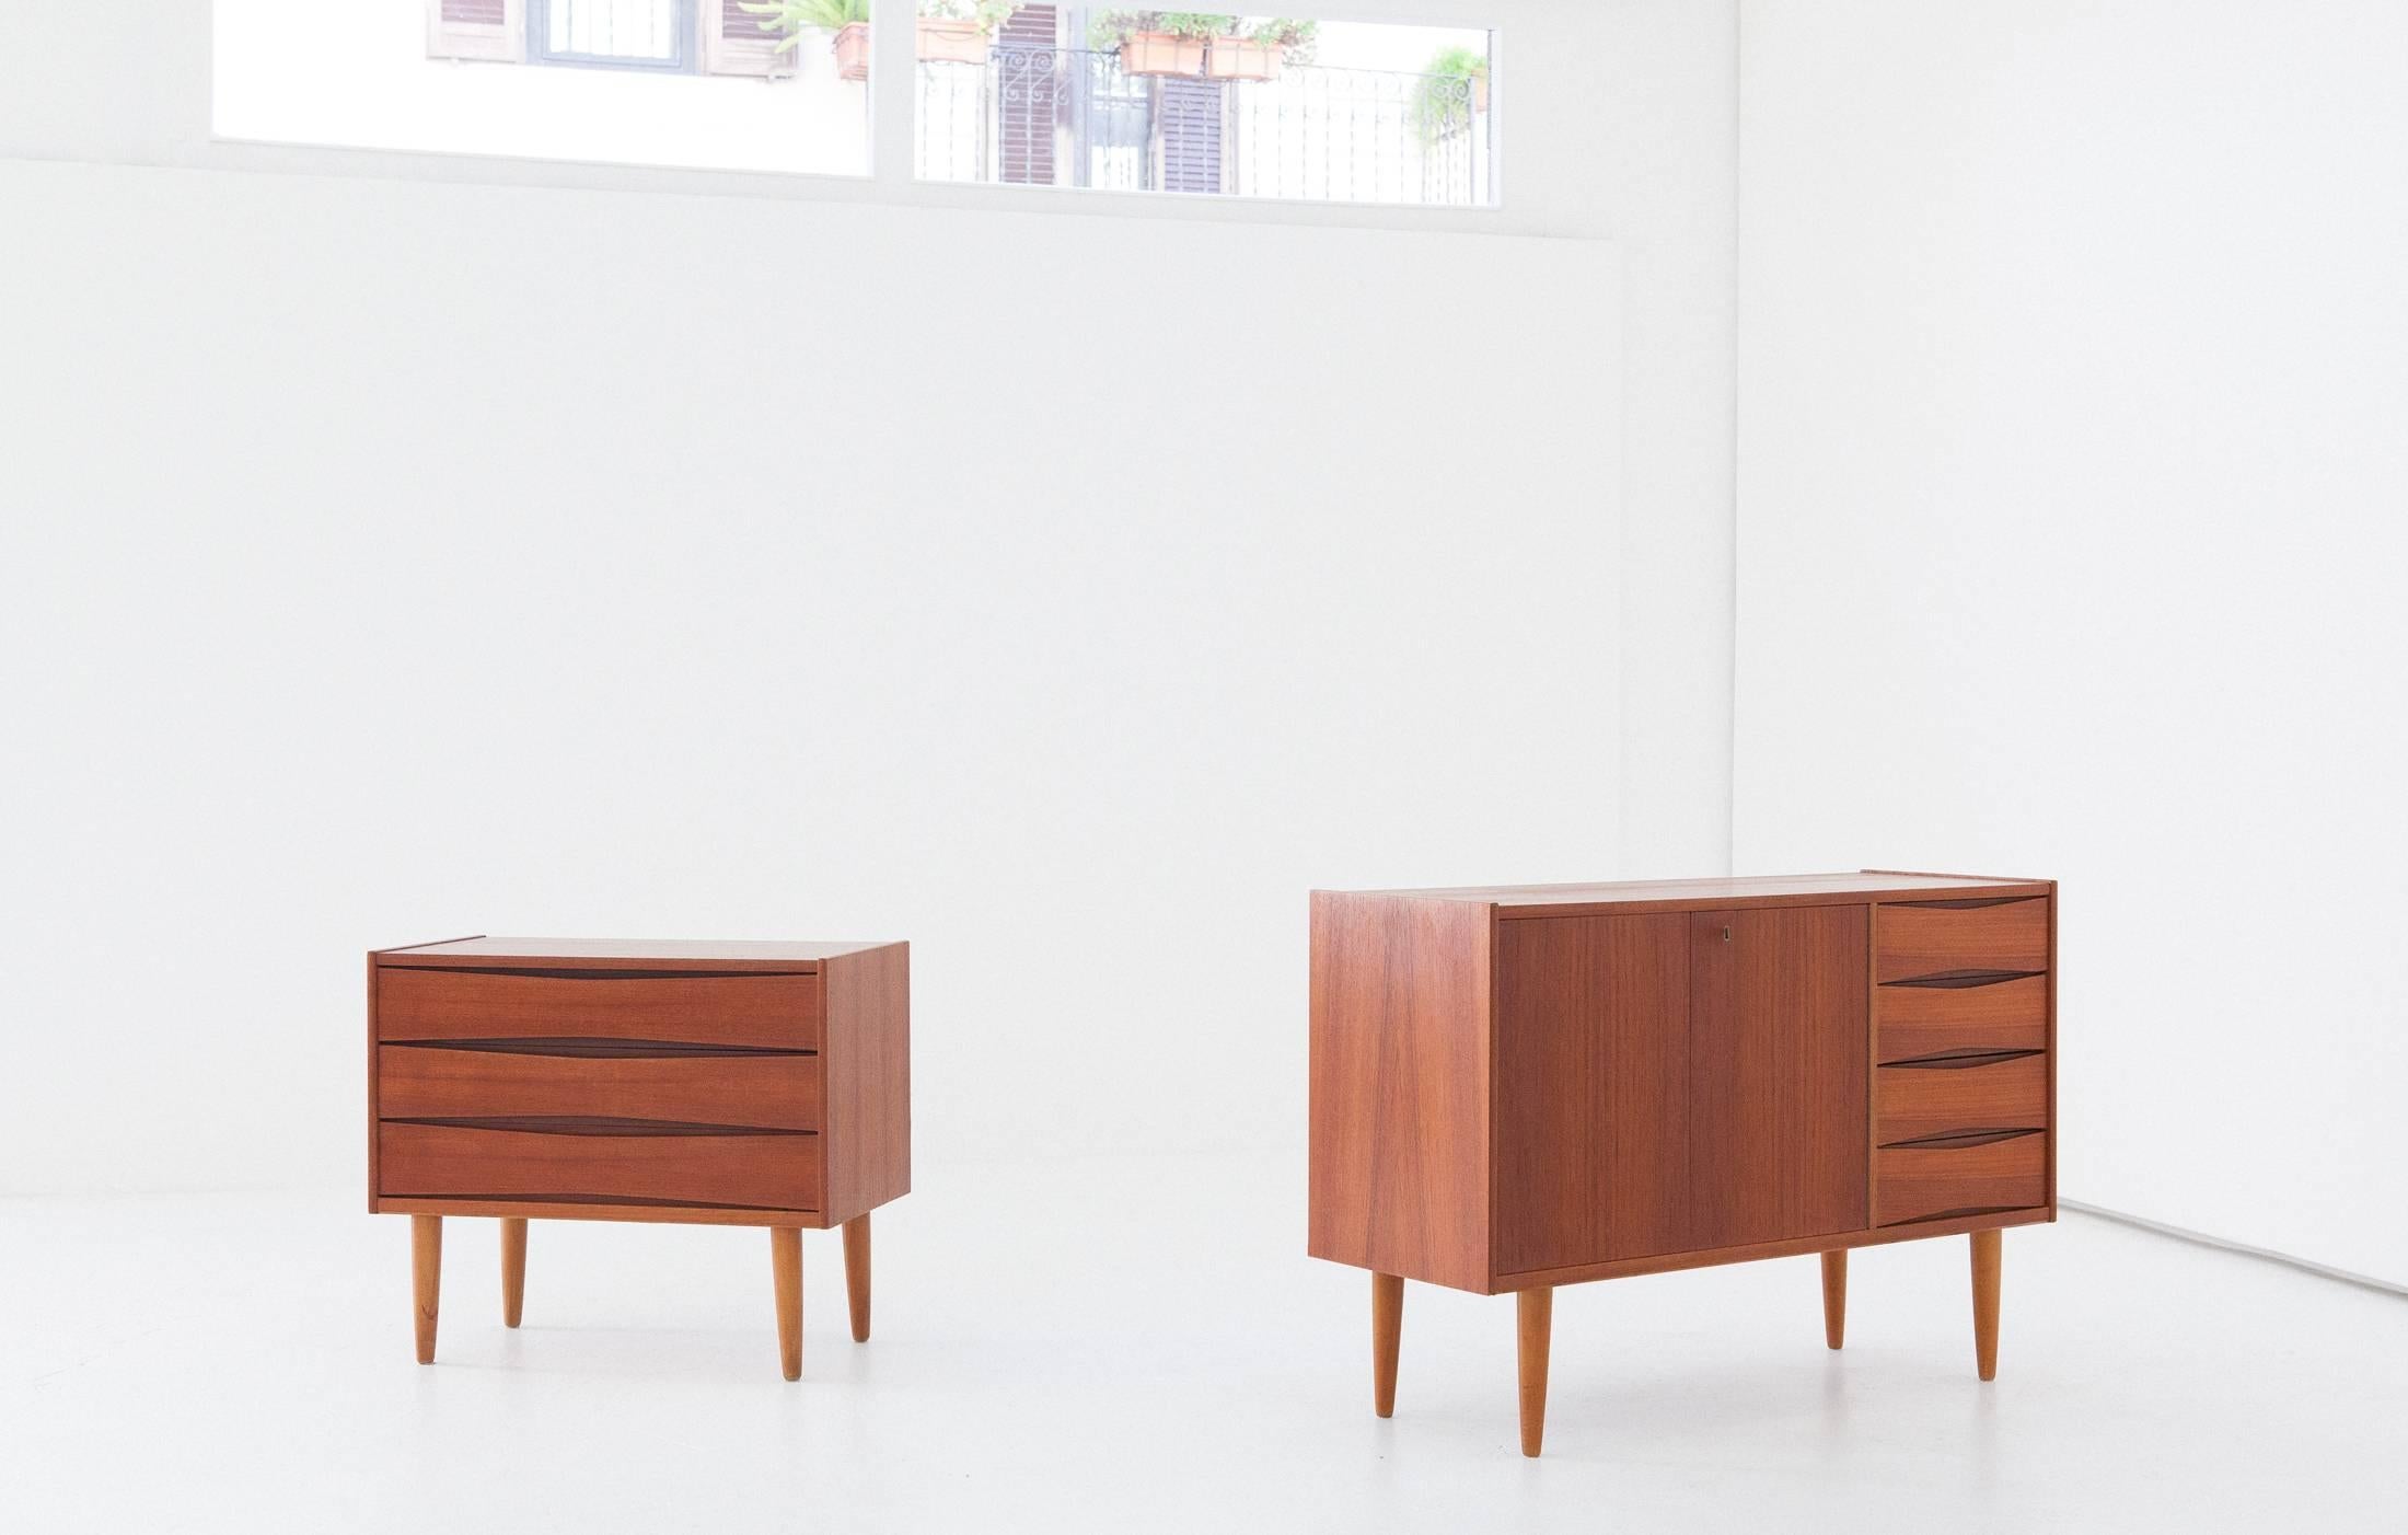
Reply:
[[[1751,0],[1739,860],[2064,880],[2064,1193],[2408,1280],[2408,10]]]

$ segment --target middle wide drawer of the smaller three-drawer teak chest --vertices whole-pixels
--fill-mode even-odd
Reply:
[[[380,1046],[376,1060],[376,1111],[383,1118],[549,1113],[819,1130],[816,1055],[527,1055]]]

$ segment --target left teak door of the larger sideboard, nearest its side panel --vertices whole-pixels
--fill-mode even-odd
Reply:
[[[1688,1241],[1688,918],[1498,928],[1495,1263]]]

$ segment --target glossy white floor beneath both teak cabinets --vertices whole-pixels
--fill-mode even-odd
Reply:
[[[2006,1234],[1999,1381],[1963,1239],[1565,1289],[1544,1460],[1512,1301],[1303,1255],[1300,1157],[922,1169],[877,1217],[877,1337],[804,1236],[537,1224],[501,1328],[448,1222],[354,1195],[0,1200],[5,1530],[2401,1530],[2408,1301],[2068,1215]]]

